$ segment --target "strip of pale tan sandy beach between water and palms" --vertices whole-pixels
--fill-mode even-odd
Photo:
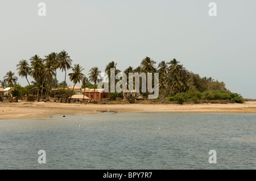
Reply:
[[[243,104],[65,104],[55,102],[0,103],[0,119],[50,119],[52,115],[115,112],[256,113],[256,102]]]

